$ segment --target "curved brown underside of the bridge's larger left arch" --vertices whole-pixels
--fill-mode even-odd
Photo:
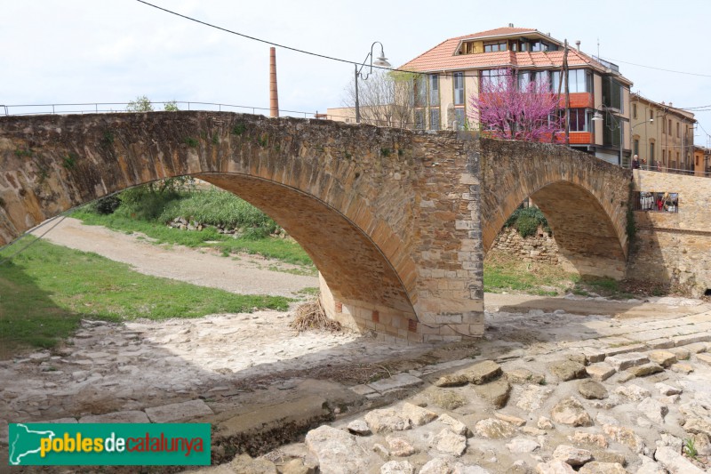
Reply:
[[[402,281],[378,246],[323,201],[244,174],[196,177],[242,197],[274,219],[308,253],[336,298],[369,301],[417,319]]]

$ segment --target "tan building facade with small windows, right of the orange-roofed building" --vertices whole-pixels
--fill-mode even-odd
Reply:
[[[630,96],[632,153],[644,168],[671,173],[693,173],[694,125],[691,112],[671,103],[655,102],[638,93]]]

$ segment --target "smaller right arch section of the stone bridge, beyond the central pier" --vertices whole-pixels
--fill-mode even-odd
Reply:
[[[526,197],[581,274],[624,277],[631,172],[564,147],[481,141],[483,250]]]

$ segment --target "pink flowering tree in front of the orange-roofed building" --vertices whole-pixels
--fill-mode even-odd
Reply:
[[[547,80],[528,82],[511,69],[482,77],[478,96],[470,104],[480,128],[502,140],[558,141],[563,120],[558,98]],[[521,78],[521,80],[519,80]]]

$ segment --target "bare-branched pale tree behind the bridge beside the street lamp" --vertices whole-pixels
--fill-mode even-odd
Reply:
[[[367,79],[358,79],[361,123],[412,128],[414,74],[378,70]],[[356,83],[346,89],[345,107],[356,107]]]

